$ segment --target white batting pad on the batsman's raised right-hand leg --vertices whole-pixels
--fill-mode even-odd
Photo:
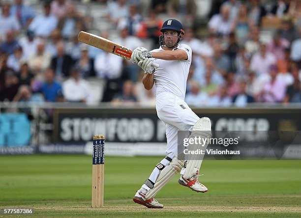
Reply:
[[[205,137],[205,138],[211,138],[211,121],[208,117],[202,117],[199,119],[194,126],[192,127],[192,132],[189,137]],[[206,150],[208,146],[207,143],[202,145],[195,145],[195,148],[199,148],[202,150]],[[196,154],[196,155],[190,155],[186,160],[186,169],[183,174],[183,177],[185,179],[189,179],[191,176],[193,176],[196,172],[195,168],[200,169],[201,164],[204,159],[204,155]]]

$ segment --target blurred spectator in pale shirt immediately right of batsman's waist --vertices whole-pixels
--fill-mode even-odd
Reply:
[[[207,93],[200,91],[200,85],[196,81],[188,81],[190,87],[190,92],[186,94],[185,102],[189,106],[206,106],[209,101],[209,96]]]

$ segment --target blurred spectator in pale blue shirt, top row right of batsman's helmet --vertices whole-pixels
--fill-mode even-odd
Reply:
[[[230,8],[224,5],[220,9],[220,13],[213,15],[208,23],[210,32],[219,34],[222,36],[229,35],[232,32],[233,20],[230,18]]]

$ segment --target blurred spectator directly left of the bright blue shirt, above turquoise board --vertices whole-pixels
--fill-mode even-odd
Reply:
[[[14,102],[41,103],[44,102],[40,93],[32,93],[30,86],[22,85],[19,87],[18,93],[15,95]]]

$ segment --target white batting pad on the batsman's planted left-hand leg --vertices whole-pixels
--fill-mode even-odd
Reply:
[[[153,188],[147,192],[146,199],[154,197],[158,191],[160,191],[178,172],[181,171],[184,163],[178,160],[178,157],[174,157],[171,163],[166,166],[158,176]]]

